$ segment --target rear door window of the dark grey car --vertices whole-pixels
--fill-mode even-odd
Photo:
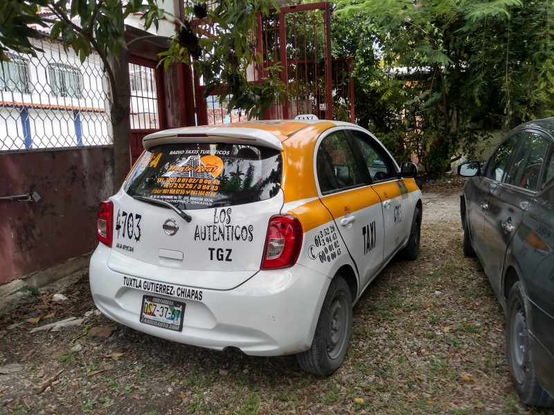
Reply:
[[[528,190],[537,190],[549,140],[537,133],[528,132],[517,149],[506,175],[506,183]]]

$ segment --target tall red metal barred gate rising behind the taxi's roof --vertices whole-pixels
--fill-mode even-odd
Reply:
[[[258,82],[265,68],[283,66],[281,81],[287,86],[283,104],[276,102],[263,116],[267,120],[314,114],[320,119],[354,122],[354,89],[350,77],[352,59],[331,57],[330,6],[327,2],[286,6],[269,17],[258,17],[256,38],[262,54],[261,67],[249,68],[252,82]],[[244,120],[244,111],[227,111],[219,102],[224,90],[202,98],[204,86],[195,79],[198,124],[225,124]]]

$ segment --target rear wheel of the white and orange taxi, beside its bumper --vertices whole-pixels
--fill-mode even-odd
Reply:
[[[307,372],[330,376],[341,366],[352,331],[352,297],[340,275],[332,280],[317,321],[312,346],[296,360]]]

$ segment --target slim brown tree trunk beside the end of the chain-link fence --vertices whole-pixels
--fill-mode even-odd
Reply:
[[[114,73],[115,84],[111,85],[111,131],[114,134],[114,193],[125,181],[131,167],[129,149],[129,113],[131,86],[129,84],[129,51],[119,48],[116,58],[108,53],[108,60]]]

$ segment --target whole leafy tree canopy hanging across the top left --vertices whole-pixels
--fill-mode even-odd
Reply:
[[[145,28],[158,25],[164,10],[155,0],[3,0],[0,20],[0,53],[6,59],[6,50],[36,56],[40,50],[30,39],[39,39],[39,28],[51,26],[51,39],[61,37],[64,46],[73,48],[81,61],[96,50],[104,61],[111,84],[116,82],[107,62],[109,50],[118,57],[120,48],[126,48],[123,21],[136,12],[143,13]],[[212,4],[212,3],[211,3]],[[208,3],[188,3],[184,22],[176,21],[176,34],[170,49],[162,53],[164,66],[173,62],[192,62],[202,76],[206,94],[226,84],[221,99],[230,98],[229,109],[245,109],[250,117],[260,116],[275,100],[282,99],[285,86],[278,78],[280,66],[265,68],[265,76],[256,83],[247,82],[249,65],[261,65],[262,56],[256,52],[256,12],[269,14],[276,7],[266,0],[226,0],[208,7]],[[38,12],[50,12],[42,17]],[[172,18],[172,17],[170,17]],[[117,94],[114,93],[116,97]]]

